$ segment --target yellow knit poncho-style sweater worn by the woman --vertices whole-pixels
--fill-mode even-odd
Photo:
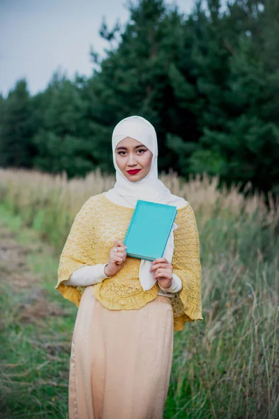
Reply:
[[[107,263],[114,240],[124,240],[133,208],[122,207],[107,200],[103,193],[86,201],[75,221],[61,253],[58,289],[63,297],[77,306],[84,291],[81,286],[66,286],[62,281],[85,265]],[[201,265],[199,236],[195,215],[190,204],[178,210],[174,230],[173,272],[179,276],[183,288],[172,297],[174,330],[182,330],[187,321],[203,320],[201,303]],[[158,284],[143,291],[139,279],[140,259],[126,258],[121,270],[111,278],[93,285],[93,295],[111,310],[140,309],[156,298]]]

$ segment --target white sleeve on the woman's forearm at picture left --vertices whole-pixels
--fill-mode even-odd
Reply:
[[[63,281],[62,284],[73,286],[89,286],[102,282],[107,277],[105,274],[105,266],[107,263],[98,263],[97,265],[86,265],[75,270],[70,278]]]

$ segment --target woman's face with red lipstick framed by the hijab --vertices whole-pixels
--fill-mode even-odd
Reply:
[[[119,141],[115,149],[116,164],[131,182],[137,182],[149,174],[152,156],[145,145],[130,137]]]

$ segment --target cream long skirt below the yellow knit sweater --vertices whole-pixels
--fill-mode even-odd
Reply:
[[[169,297],[108,310],[86,287],[70,355],[70,419],[162,419],[172,367]]]

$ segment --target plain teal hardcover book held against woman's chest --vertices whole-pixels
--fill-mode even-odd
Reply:
[[[176,207],[137,200],[124,243],[132,258],[162,258],[176,217]]]

